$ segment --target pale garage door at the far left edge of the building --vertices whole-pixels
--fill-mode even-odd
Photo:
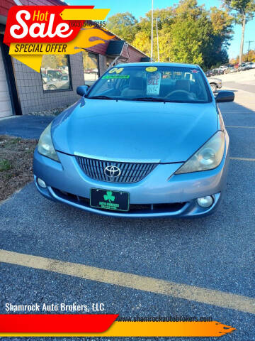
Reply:
[[[11,97],[8,91],[3,53],[0,45],[0,118],[11,116],[12,114],[13,110],[11,107]]]

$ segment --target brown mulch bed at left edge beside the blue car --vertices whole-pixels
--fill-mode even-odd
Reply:
[[[36,140],[0,135],[0,201],[33,180]]]

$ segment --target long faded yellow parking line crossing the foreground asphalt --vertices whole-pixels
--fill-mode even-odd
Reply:
[[[255,298],[0,249],[0,261],[255,314]]]

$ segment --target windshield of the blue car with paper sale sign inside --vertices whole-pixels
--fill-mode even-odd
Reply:
[[[192,67],[113,67],[91,87],[88,98],[155,102],[211,102],[203,72]]]

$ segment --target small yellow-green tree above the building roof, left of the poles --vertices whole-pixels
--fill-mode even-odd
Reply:
[[[131,43],[137,33],[136,25],[137,19],[135,16],[132,16],[130,12],[125,12],[110,16],[106,23],[106,28],[120,38],[128,41],[128,43]]]

